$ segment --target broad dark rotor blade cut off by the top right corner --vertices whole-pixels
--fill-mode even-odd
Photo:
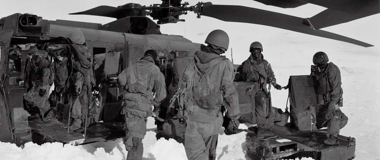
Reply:
[[[371,3],[366,1],[365,5],[361,5],[359,8],[360,12],[355,14],[348,14],[334,9],[327,9],[311,17],[309,21],[315,29],[322,29],[332,25],[354,21],[356,19],[361,19],[380,13],[380,1],[375,0]]]

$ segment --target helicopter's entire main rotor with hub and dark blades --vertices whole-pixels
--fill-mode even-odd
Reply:
[[[344,41],[363,47],[372,47],[373,45],[371,44],[320,29],[380,13],[379,2],[377,0],[340,0],[328,3],[324,3],[325,0],[257,0],[257,2],[264,3],[266,5],[279,6],[282,8],[294,8],[307,3],[329,8],[328,10],[325,10],[311,18],[295,17],[287,14],[239,5],[213,5],[211,2],[198,2],[194,6],[187,6],[189,5],[187,2],[181,4],[182,0],[162,1],[162,4],[154,4],[150,6],[142,6],[137,3],[128,3],[126,5],[117,7],[98,6],[86,11],[71,14],[112,17],[116,19],[127,16],[149,15],[154,20],[158,20],[157,24],[166,24],[185,22],[184,19],[179,19],[179,16],[187,14],[187,11],[193,11],[197,14],[197,18],[201,18],[201,16],[207,16],[226,22],[241,22],[266,25],[270,27],[291,30],[294,32],[320,36],[323,38]],[[146,10],[149,10],[151,12]],[[263,17],[265,17],[265,21],[263,21]]]

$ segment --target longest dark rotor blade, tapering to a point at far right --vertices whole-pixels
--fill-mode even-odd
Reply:
[[[294,17],[287,14],[281,14],[246,6],[233,5],[205,5],[202,10],[203,16],[213,17],[227,22],[241,22],[260,24],[276,27],[294,32],[305,33],[314,36],[329,38],[332,40],[344,41],[363,47],[372,47],[373,45],[362,41],[354,40],[345,36],[324,30],[313,30],[309,26],[302,24],[303,18]]]

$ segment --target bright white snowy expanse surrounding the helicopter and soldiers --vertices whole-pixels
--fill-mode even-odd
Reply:
[[[72,2],[70,2],[72,1]],[[94,0],[95,1],[95,0]],[[186,0],[194,5],[198,0]],[[30,3],[30,2],[25,2]],[[49,5],[47,2],[41,2]],[[35,3],[35,4],[41,4]],[[75,3],[77,5],[71,5]],[[101,22],[102,24],[114,21],[111,18],[97,16],[67,15],[100,5],[119,6],[125,4],[124,0],[101,1],[88,3],[85,0],[68,0],[70,6],[60,4],[62,8],[72,10],[57,10],[56,7],[46,7],[46,10],[37,10],[33,14],[43,16],[44,19],[67,19],[85,22]],[[157,0],[139,0],[140,4],[148,5],[158,3]],[[30,5],[35,5],[30,4]],[[315,5],[304,5],[294,9],[281,9],[266,6],[252,0],[236,1],[217,0],[213,4],[243,5],[276,11],[299,17],[311,17],[325,8]],[[7,6],[7,2],[5,5]],[[29,5],[13,8],[13,3],[8,4],[11,11],[0,10],[4,15],[14,12],[25,13]],[[86,6],[86,8],[83,8]],[[5,13],[6,11],[6,13]],[[49,13],[49,14],[46,14]],[[54,14],[53,14],[54,13]],[[356,158],[358,160],[380,159],[380,138],[378,131],[380,124],[380,15],[369,16],[345,24],[328,27],[326,31],[348,36],[375,45],[371,48],[363,48],[340,41],[329,40],[302,33],[266,27],[262,25],[223,22],[210,17],[202,16],[196,19],[193,13],[180,17],[186,22],[161,25],[161,32],[167,34],[182,35],[196,43],[204,43],[207,34],[215,29],[225,30],[230,36],[230,48],[233,48],[234,64],[241,64],[249,56],[249,45],[253,41],[263,44],[263,55],[273,68],[277,83],[285,86],[289,76],[310,74],[312,56],[315,52],[324,51],[328,54],[330,62],[336,64],[342,75],[342,88],[344,106],[341,108],[348,116],[348,124],[340,130],[340,134],[356,138]],[[265,19],[263,19],[265,21]],[[230,49],[226,57],[231,58]],[[273,87],[272,87],[273,88]],[[288,90],[271,90],[273,106],[285,109]],[[152,118],[148,120],[148,129],[155,128]],[[241,128],[246,126],[241,125]],[[169,141],[159,139],[156,141],[155,133],[148,131],[144,143],[144,159],[146,160],[186,160],[184,146],[173,139]],[[226,136],[221,129],[218,138],[218,160],[245,160],[245,132]],[[109,142],[92,143],[83,146],[63,146],[60,143],[43,144],[38,146],[33,143],[25,144],[23,149],[14,144],[0,143],[0,160],[122,160],[127,157],[127,151],[121,139]],[[302,158],[302,160],[311,158]]]

